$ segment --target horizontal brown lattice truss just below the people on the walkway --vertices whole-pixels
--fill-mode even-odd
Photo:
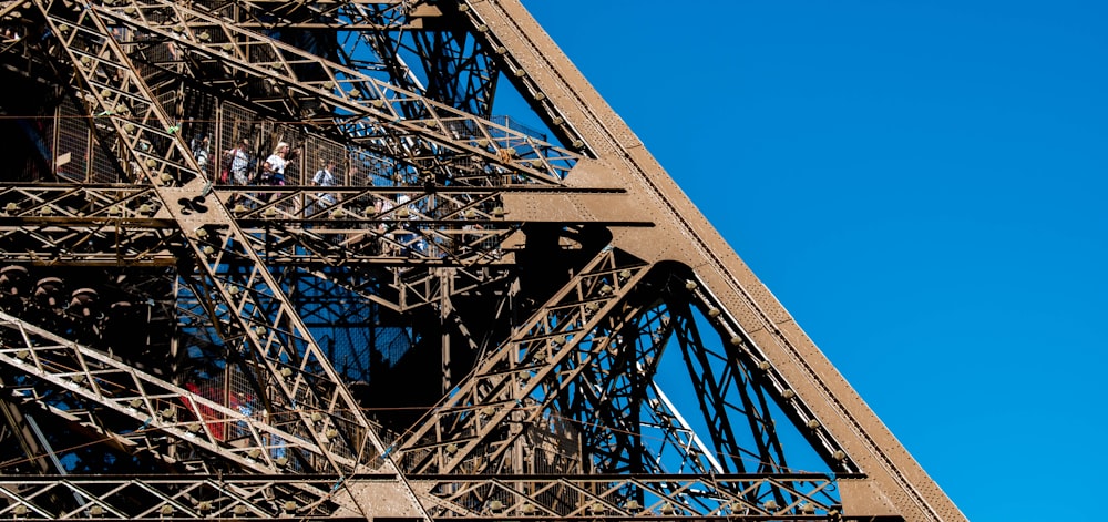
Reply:
[[[618,193],[542,187],[338,188],[341,201],[325,208],[311,203],[317,192],[307,187],[259,187],[249,194],[219,187],[213,203],[235,194],[239,203],[232,217],[246,239],[240,246],[253,249],[266,266],[297,269],[273,270],[280,287],[290,287],[287,275],[307,273],[320,284],[330,282],[403,313],[438,303],[448,288],[447,295],[469,293],[510,276],[521,228],[535,222],[503,214],[497,203],[502,194],[542,198],[575,192]],[[411,196],[404,205],[381,204],[397,194]],[[4,250],[0,258],[9,263],[174,267],[191,258],[182,256],[186,235],[160,213],[161,199],[150,186],[0,186],[0,211]],[[196,233],[206,236],[209,228],[202,225]],[[373,272],[366,266],[392,268]],[[437,267],[454,268],[449,285],[432,272]]]

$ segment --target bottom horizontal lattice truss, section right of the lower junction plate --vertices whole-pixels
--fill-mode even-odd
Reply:
[[[434,497],[450,501],[430,510],[440,520],[842,520],[829,495],[834,481],[819,474],[499,474],[413,482],[420,490],[429,484]],[[780,504],[768,494],[782,490],[796,500]]]

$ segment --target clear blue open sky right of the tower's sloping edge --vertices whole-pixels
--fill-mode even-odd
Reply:
[[[524,4],[971,520],[1102,520],[1108,2]]]

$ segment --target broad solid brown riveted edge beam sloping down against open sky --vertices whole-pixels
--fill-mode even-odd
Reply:
[[[579,136],[595,157],[593,165],[578,162],[568,182],[625,187],[637,204],[618,208],[617,215],[648,216],[658,225],[623,231],[613,243],[645,259],[694,267],[721,305],[720,319],[749,336],[869,477],[871,487],[858,498],[849,495],[856,490],[844,491],[847,510],[853,504],[907,520],[965,520],[523,6],[516,0],[469,0],[464,6],[493,45],[506,50],[504,66],[522,71],[516,78],[532,89],[533,103],[548,108],[551,121],[564,121],[570,136]],[[864,498],[872,494],[882,500]]]

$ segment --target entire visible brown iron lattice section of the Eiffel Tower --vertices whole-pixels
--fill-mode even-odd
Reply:
[[[0,519],[965,520],[519,0],[0,30]]]

